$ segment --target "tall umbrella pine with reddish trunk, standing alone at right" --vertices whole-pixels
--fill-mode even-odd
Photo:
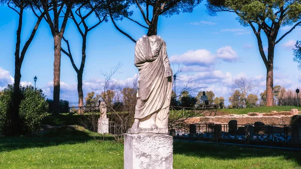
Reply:
[[[210,15],[218,12],[230,12],[238,16],[238,21],[244,27],[251,27],[257,39],[258,49],[266,67],[266,105],[273,105],[273,61],[274,50],[286,35],[301,25],[301,1],[237,1],[237,0],[207,0]],[[292,26],[279,38],[280,27]],[[262,34],[267,39],[267,55],[264,53]],[[297,46],[298,45],[298,46]],[[300,50],[296,44],[297,51]],[[300,55],[299,55],[300,56]]]

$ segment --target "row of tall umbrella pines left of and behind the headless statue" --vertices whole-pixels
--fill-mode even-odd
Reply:
[[[15,93],[20,91],[21,82],[21,67],[26,55],[27,49],[31,45],[40,23],[44,19],[51,30],[54,40],[54,91],[53,100],[55,109],[59,106],[60,99],[60,67],[61,67],[61,52],[66,54],[71,61],[71,64],[77,73],[78,80],[78,97],[79,105],[83,106],[83,91],[82,91],[82,77],[86,60],[86,42],[88,33],[103,22],[111,19],[115,28],[126,35],[131,41],[135,42],[127,33],[122,31],[116,24],[116,21],[128,19],[141,28],[147,30],[147,35],[157,35],[159,16],[170,17],[180,12],[192,12],[201,1],[189,0],[165,0],[165,1],[118,1],[118,0],[0,0],[1,4],[7,4],[9,8],[14,10],[19,15],[19,23],[17,29],[17,43],[15,51]],[[133,20],[132,11],[129,7],[136,6],[146,26]],[[25,10],[31,10],[37,17],[37,22],[33,27],[31,36],[26,41],[24,47],[21,49],[21,36],[23,27],[23,14]],[[95,16],[98,21],[88,26],[86,20],[90,16]],[[82,37],[81,49],[81,63],[77,67],[73,60],[71,47],[66,38],[64,38],[65,28],[68,20],[71,19],[76,25],[79,34]],[[62,48],[62,40],[66,43],[67,49]],[[15,96],[15,104],[19,105],[18,95]],[[18,106],[16,106],[18,107]],[[16,110],[17,112],[18,110]]]

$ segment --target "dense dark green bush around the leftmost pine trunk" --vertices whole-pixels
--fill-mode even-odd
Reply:
[[[25,86],[20,88],[19,96],[20,134],[26,135],[37,132],[48,109],[45,95],[41,89],[35,90],[33,86]],[[12,111],[14,110],[13,106],[15,106],[13,97],[13,85],[8,85],[0,95],[0,133],[4,135],[12,135],[10,128],[13,124]]]

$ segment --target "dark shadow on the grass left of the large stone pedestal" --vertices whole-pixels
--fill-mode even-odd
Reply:
[[[80,126],[62,126],[40,136],[0,137],[0,152],[62,144],[77,144],[90,140],[114,140],[114,137],[92,133]]]

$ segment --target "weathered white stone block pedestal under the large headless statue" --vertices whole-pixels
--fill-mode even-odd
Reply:
[[[124,134],[124,169],[172,169],[173,136]]]

